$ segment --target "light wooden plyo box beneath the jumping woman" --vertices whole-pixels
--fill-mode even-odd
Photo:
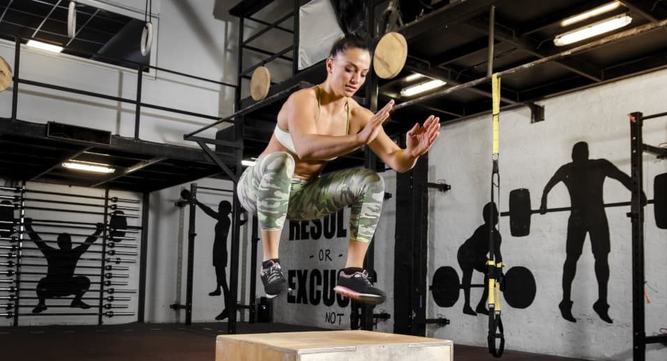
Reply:
[[[216,361],[452,361],[444,339],[354,331],[219,335]]]

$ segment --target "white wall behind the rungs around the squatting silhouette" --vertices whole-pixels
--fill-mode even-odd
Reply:
[[[0,178],[0,185],[13,187],[8,180]],[[54,249],[59,249],[59,245],[54,241],[59,238],[59,234],[68,233],[70,234],[70,239],[73,242],[72,248],[79,246],[78,243],[83,243],[87,239],[86,236],[93,234],[95,229],[95,224],[98,222],[104,222],[103,207],[91,207],[91,206],[82,206],[82,205],[72,205],[67,203],[49,203],[44,201],[36,201],[37,199],[49,199],[53,201],[64,201],[64,202],[75,202],[75,203],[88,203],[88,204],[98,204],[103,205],[103,199],[90,199],[84,197],[105,197],[105,190],[89,188],[89,187],[75,187],[67,185],[56,185],[56,184],[47,184],[47,183],[38,183],[38,182],[28,182],[26,185],[26,206],[25,216],[33,219],[33,230],[38,234],[38,236],[45,240],[46,245]],[[57,192],[62,195],[54,194],[43,194],[38,193],[40,191],[46,192]],[[67,195],[65,195],[67,194]],[[17,195],[9,192],[3,192],[3,195]],[[82,197],[80,197],[82,196]],[[110,191],[109,197],[118,197],[122,199],[132,199],[138,201],[139,203],[127,203],[119,202],[114,203],[110,201],[110,205],[117,204],[119,206],[132,206],[140,208],[140,210],[125,210],[123,213],[126,215],[139,215],[139,217],[127,217],[126,221],[129,226],[141,226],[141,214],[142,214],[142,204],[140,203],[142,199],[142,194],[136,192],[127,192],[112,190]],[[43,208],[43,209],[36,209]],[[48,208],[48,209],[44,209]],[[79,213],[78,211],[82,211]],[[19,210],[14,210],[14,217],[18,218],[20,216]],[[93,214],[94,213],[94,214]],[[151,217],[153,215],[151,214]],[[66,222],[64,224],[66,227],[53,227],[45,226],[44,222],[49,222],[54,224],[54,222]],[[75,224],[76,222],[84,222],[84,224]],[[109,220],[107,219],[107,222]],[[56,223],[57,224],[57,223]],[[74,225],[82,228],[67,228],[67,226]],[[17,229],[17,226],[14,226]],[[116,289],[123,291],[134,291],[125,293],[120,291],[118,293],[107,293],[105,292],[103,297],[113,295],[119,298],[130,298],[130,300],[115,300],[114,302],[103,302],[104,305],[127,305],[127,308],[120,309],[104,309],[103,312],[113,311],[114,313],[118,312],[128,312],[133,315],[130,316],[113,316],[113,317],[103,317],[103,323],[105,324],[121,324],[121,323],[130,323],[137,320],[137,305],[138,305],[138,293],[139,289],[139,259],[140,259],[140,244],[141,244],[141,234],[142,233],[126,233],[124,236],[127,238],[135,239],[122,239],[122,240],[110,240],[107,242],[114,242],[118,247],[108,247],[106,248],[107,252],[116,250],[120,252],[137,252],[136,255],[109,255],[105,256],[106,259],[123,259],[122,263],[105,263],[106,266],[121,266],[127,267],[128,270],[105,270],[105,273],[112,273],[114,277],[105,278],[103,281],[111,282],[121,282],[126,283],[123,285],[112,285],[105,286],[105,290]],[[80,236],[82,235],[82,236]],[[150,238],[149,238],[150,239]],[[27,265],[46,265],[47,257],[38,250],[38,246],[29,234],[24,233],[23,235],[23,248],[22,254],[24,258],[20,261],[23,265],[21,268],[22,275],[20,287],[20,316],[19,316],[19,325],[97,325],[98,316],[89,315],[89,316],[76,316],[76,315],[67,315],[73,313],[84,313],[91,314],[98,312],[98,303],[99,300],[93,300],[92,298],[99,298],[100,285],[96,282],[100,282],[100,265],[101,261],[94,261],[94,259],[100,259],[102,255],[100,251],[102,250],[103,238],[102,235],[98,236],[92,245],[87,249],[86,252],[81,254],[79,261],[77,261],[77,268],[75,268],[75,276],[88,275],[87,278],[91,281],[89,286],[89,291],[84,293],[83,301],[91,306],[90,309],[80,309],[75,307],[69,307],[73,295],[66,295],[63,299],[59,298],[47,298],[45,300],[45,305],[48,307],[47,310],[39,312],[36,314],[33,312],[33,306],[38,304],[36,300],[36,292],[34,289],[38,286],[38,281],[43,279],[47,275],[47,268],[43,266],[27,266]],[[108,244],[108,243],[107,243]],[[16,245],[15,243],[3,242],[1,244],[3,247],[10,245]],[[137,248],[126,248],[126,246],[137,245]],[[3,248],[0,249],[0,262],[14,261],[16,258],[8,259],[6,254],[15,251]],[[149,256],[150,259],[150,256]],[[57,265],[58,263],[54,263]],[[90,266],[91,268],[81,267],[81,266]],[[2,270],[7,270],[7,268],[2,268]],[[128,275],[128,277],[123,277]],[[120,277],[119,277],[120,276]],[[15,279],[16,276],[0,275],[0,279]],[[71,286],[71,283],[68,283],[67,286]],[[17,286],[16,284],[6,284],[1,283],[0,287],[7,286]],[[50,292],[49,290],[47,292]],[[7,292],[2,292],[3,296],[8,295]],[[3,300],[3,304],[6,303],[15,303],[13,300]],[[30,306],[30,307],[26,307]],[[6,310],[3,309],[3,312]],[[10,311],[13,311],[10,310]],[[63,316],[52,316],[52,314],[65,314]],[[0,326],[10,326],[13,324],[13,318],[0,317]]]

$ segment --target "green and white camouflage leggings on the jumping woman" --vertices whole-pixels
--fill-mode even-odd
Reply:
[[[257,214],[260,229],[279,231],[285,217],[313,220],[352,206],[350,238],[370,242],[382,212],[382,177],[370,169],[334,171],[309,181],[293,174],[294,158],[285,152],[264,155],[243,171],[239,201]]]

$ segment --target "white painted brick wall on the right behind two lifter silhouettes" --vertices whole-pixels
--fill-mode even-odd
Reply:
[[[654,72],[546,100],[541,102],[546,107],[546,121],[541,123],[530,123],[528,109],[502,112],[500,210],[507,210],[509,191],[520,187],[530,190],[532,208],[539,208],[544,185],[560,166],[571,162],[572,146],[578,141],[589,144],[591,159],[604,158],[630,174],[626,114],[665,112],[662,100],[667,91],[666,79],[666,71]],[[656,146],[664,143],[666,130],[664,118],[647,121],[645,143]],[[460,277],[456,252],[474,229],[484,223],[481,209],[489,201],[490,116],[445,126],[440,134],[441,139],[429,158],[430,178],[447,179],[452,190],[430,201],[429,243],[432,247],[429,249],[429,275],[432,277],[440,266],[452,266]],[[653,178],[667,171],[667,162],[645,155],[644,167],[644,188],[651,199]],[[606,179],[606,203],[629,199],[630,192],[623,185]],[[556,185],[548,195],[548,206],[569,205],[566,187],[562,183]],[[654,335],[667,323],[664,313],[667,302],[667,284],[664,282],[667,245],[664,240],[667,232],[655,226],[653,207],[649,205],[646,210],[646,291],[652,299],[646,306],[646,330],[647,335]],[[601,321],[592,310],[592,304],[597,300],[597,281],[588,237],[572,285],[572,312],[578,321],[566,321],[559,312],[568,212],[533,215],[530,236],[523,238],[512,237],[509,220],[501,218],[502,254],[504,263],[507,263],[505,272],[512,266],[525,266],[537,282],[537,298],[527,309],[512,309],[504,302],[502,318],[508,349],[594,360],[631,359],[631,229],[627,212],[629,207],[606,210],[611,242],[608,302],[613,324]],[[483,277],[475,272],[472,283],[482,283]],[[472,290],[473,308],[480,296],[481,289]],[[429,335],[452,339],[458,344],[486,345],[487,318],[463,314],[463,296],[451,309],[437,307],[430,297],[428,308],[451,320],[446,328],[433,329]],[[648,348],[647,360],[667,358],[663,346]]]

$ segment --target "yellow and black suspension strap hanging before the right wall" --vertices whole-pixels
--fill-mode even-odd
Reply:
[[[494,204],[494,192],[497,191],[500,199],[500,172],[498,171],[498,122],[500,116],[500,79],[497,73],[491,77],[493,88],[493,171],[491,172],[491,204]],[[500,319],[500,284],[502,277],[502,262],[495,259],[495,220],[494,207],[489,207],[489,240],[488,240],[488,351],[495,358],[502,356],[505,348],[505,337],[503,335],[502,320]],[[496,339],[500,339],[500,345],[496,348]]]

